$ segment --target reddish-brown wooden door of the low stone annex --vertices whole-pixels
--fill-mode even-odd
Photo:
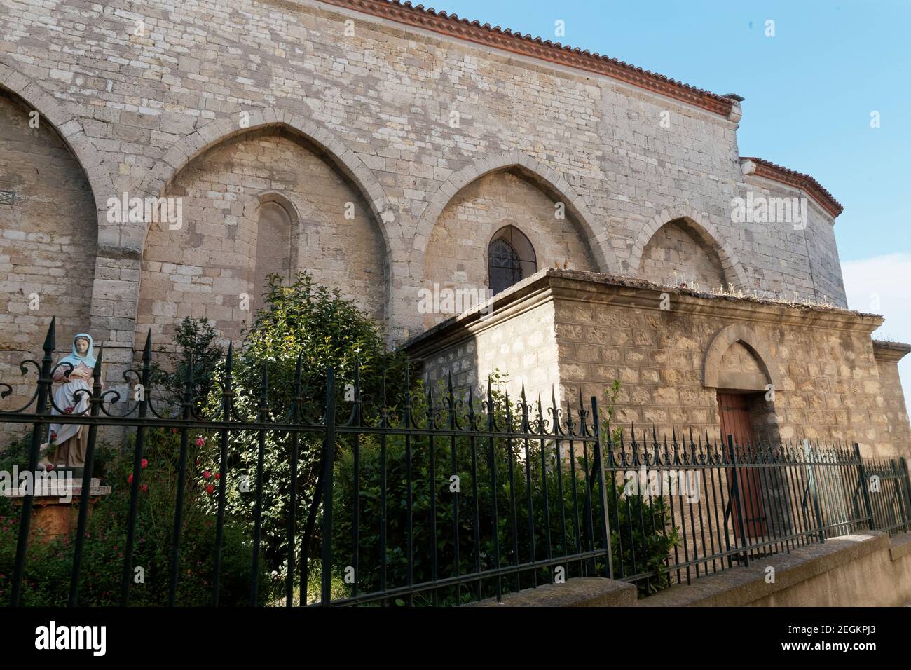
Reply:
[[[722,437],[727,448],[728,436],[732,436],[735,445],[739,445],[738,458],[748,458],[749,446],[755,442],[750,427],[750,408],[747,397],[742,394],[718,393],[718,413],[722,419]],[[760,486],[759,470],[756,468],[738,468],[742,487],[743,522],[746,525],[747,537],[763,537],[766,532],[763,495]],[[728,493],[731,495],[731,519],[734,534],[742,536],[737,500],[734,497],[736,479],[733,470],[728,477]]]

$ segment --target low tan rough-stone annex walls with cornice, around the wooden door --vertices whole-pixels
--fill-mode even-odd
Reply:
[[[621,383],[615,419],[651,428],[694,428],[718,434],[717,392],[750,393],[752,423],[763,438],[859,442],[865,456],[911,457],[906,414],[897,374],[877,364],[870,334],[881,317],[846,310],[793,307],[720,298],[645,283],[620,283],[603,275],[545,271],[495,301],[488,325],[463,316],[407,349],[415,356],[435,347],[474,349],[476,370],[495,361],[500,369],[517,361],[500,355],[521,346],[507,335],[509,314],[523,305],[551,304],[558,399],[588,402],[615,379]],[[665,304],[668,308],[662,309]],[[538,308],[539,310],[539,308]],[[498,333],[500,331],[502,335]],[[716,336],[723,341],[717,344]],[[496,346],[488,343],[497,342]],[[499,343],[504,344],[499,344]],[[713,344],[714,343],[714,344]],[[717,361],[711,352],[718,353]],[[710,362],[707,364],[707,353]],[[538,352],[537,356],[542,356]],[[706,366],[718,381],[706,382]],[[430,366],[428,376],[445,367]],[[711,377],[711,372],[709,374]],[[466,384],[471,375],[459,377]],[[767,384],[773,399],[766,399]],[[517,392],[517,383],[508,386]]]

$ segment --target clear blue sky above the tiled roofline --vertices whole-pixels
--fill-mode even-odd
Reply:
[[[911,0],[424,1],[746,98],[740,154],[811,174],[844,205],[835,238],[848,304],[885,315],[875,336],[911,342]],[[899,368],[911,398],[911,355]]]

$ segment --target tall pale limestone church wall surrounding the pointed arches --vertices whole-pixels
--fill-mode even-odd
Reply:
[[[542,227],[532,239],[548,263],[565,257],[570,267],[634,274],[653,233],[687,216],[699,224],[702,243],[718,254],[733,285],[802,294],[815,287],[844,303],[829,214],[811,203],[814,219],[805,234],[732,222],[732,197],[768,181],[748,183],[742,176],[739,106],[729,101],[732,111],[725,115],[655,92],[657,85],[647,90],[338,4],[65,0],[49,10],[26,0],[0,7],[0,88],[21,94],[59,129],[94,194],[94,209],[88,203],[56,206],[79,221],[97,214],[99,255],[87,316],[100,341],[124,349],[112,352],[112,361],[128,360],[142,326],[166,333],[178,314],[205,315],[230,335],[226,322],[236,325],[240,315],[228,310],[234,310],[241,284],[251,282],[248,275],[255,276],[249,264],[255,254],[227,250],[226,256],[239,254],[231,256],[236,263],[230,267],[227,258],[207,261],[210,240],[163,240],[145,222],[107,222],[107,198],[186,191],[193,201],[191,226],[224,225],[223,235],[204,236],[249,247],[252,239],[235,239],[232,224],[207,219],[200,203],[229,204],[238,210],[230,215],[240,217],[228,196],[241,194],[231,189],[241,187],[251,197],[271,181],[301,196],[290,177],[315,165],[302,153],[271,151],[251,159],[230,149],[240,146],[232,144],[235,137],[249,144],[252,139],[242,136],[262,128],[294,129],[347,180],[344,193],[318,187],[328,208],[317,217],[321,233],[313,244],[320,253],[302,247],[300,264],[358,296],[396,342],[427,325],[417,309],[418,292],[435,273],[447,282],[462,281],[460,273],[474,281],[468,266],[477,259],[463,259],[471,262],[465,270],[454,259],[483,252],[483,231],[476,231],[480,240],[473,232],[473,244],[466,246],[447,228],[457,205],[442,224],[438,219],[458,191],[507,169],[533,175],[547,187],[541,192],[551,204],[566,205],[561,230]],[[5,136],[4,151],[22,140]],[[187,168],[215,147],[231,160],[220,165],[213,198],[201,182],[193,191],[187,180],[195,169]],[[525,198],[525,187],[507,183],[511,195]],[[355,199],[351,191],[361,199],[358,216],[364,218],[328,221],[341,198]],[[459,197],[464,202],[474,192]],[[537,204],[527,203],[537,211]],[[544,201],[539,204],[544,211]],[[499,216],[488,214],[484,228]],[[10,216],[0,207],[4,223]],[[41,230],[39,219],[26,217],[30,232]],[[366,232],[366,219],[378,233]],[[335,236],[333,226],[340,232],[356,228],[356,242]],[[441,226],[446,233],[437,232]],[[300,239],[302,245],[313,240]],[[180,246],[196,242],[199,247]],[[78,243],[93,243],[92,233]],[[162,249],[169,244],[170,251]],[[586,247],[590,258],[582,253]],[[182,259],[188,253],[197,258]],[[138,286],[140,264],[148,288]],[[364,280],[368,265],[376,272]],[[181,266],[202,273],[174,272]],[[387,269],[382,277],[381,267]],[[213,281],[190,280],[205,288],[187,292],[175,289],[186,283],[176,277]],[[45,325],[51,315],[50,309],[37,314]]]

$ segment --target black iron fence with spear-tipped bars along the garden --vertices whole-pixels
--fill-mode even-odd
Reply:
[[[271,407],[268,365],[255,401],[249,393],[238,401],[229,349],[208,399],[193,397],[198,380],[189,365],[182,397],[165,408],[151,388],[149,338],[141,369],[126,375],[138,393],[121,400],[116,391],[103,390],[101,350],[87,409],[67,414],[51,392],[55,373],[69,366],[54,365],[54,339],[52,323],[43,360],[21,366],[23,374],[30,366],[38,373],[34,394],[22,407],[0,411],[0,422],[32,427],[30,472],[38,468],[50,424],[87,427],[83,490],[89,490],[98,429],[135,435],[122,564],[107,566],[121,574],[122,605],[136,588],[145,449],[156,431],[169,431],[179,444],[173,515],[159,520],[172,529],[170,605],[180,603],[183,514],[198,495],[188,485],[189,453],[194,439],[205,441],[194,438],[200,435],[217,445],[218,487],[208,489],[215,540],[206,581],[214,605],[223,593],[226,523],[238,509],[229,500],[241,479],[249,479],[242,495],[252,503],[246,518],[251,605],[462,604],[578,576],[634,582],[647,595],[810,542],[911,527],[906,461],[862,459],[856,444],[738,444],[732,436],[691,431],[659,437],[653,430],[609,426],[596,397],[562,405],[551,397],[544,404],[524,391],[510,398],[489,382],[484,397],[459,397],[451,381],[435,397],[433,388],[411,384],[407,371],[404,392],[387,398],[383,380],[371,398],[357,367],[350,379],[336,379],[330,369],[324,401],[315,403],[298,361],[290,405]],[[249,374],[244,383],[249,391]],[[12,387],[0,387],[0,396],[8,397]],[[251,451],[245,469],[241,448]],[[281,470],[286,480],[267,480],[267,462],[276,458],[287,466]],[[264,497],[270,485],[281,491],[281,504]],[[17,520],[12,605],[21,603],[35,542],[34,503],[26,491]],[[81,571],[93,541],[87,536],[89,505],[88,496],[78,499],[70,605],[86,588]],[[271,581],[261,579],[263,572],[273,575]]]

